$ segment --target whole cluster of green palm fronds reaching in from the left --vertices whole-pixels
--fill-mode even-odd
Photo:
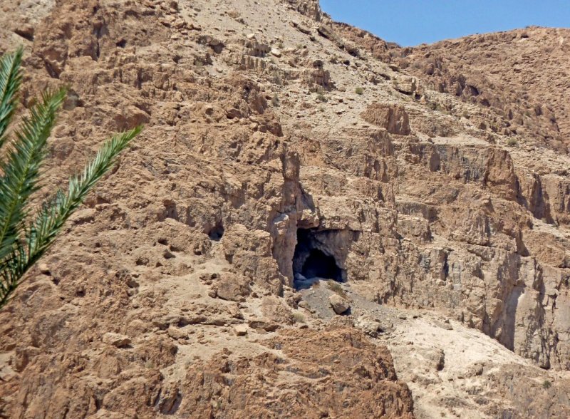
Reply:
[[[0,148],[6,143],[16,111],[21,58],[21,48],[0,58]],[[0,309],[11,299],[26,271],[48,250],[66,220],[142,129],[117,134],[103,143],[83,175],[71,178],[68,193],[58,191],[26,227],[30,219],[28,199],[40,187],[47,140],[65,97],[63,89],[43,93],[28,117],[22,118],[4,159],[0,158]]]

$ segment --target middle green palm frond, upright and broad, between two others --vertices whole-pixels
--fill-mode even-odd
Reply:
[[[38,190],[38,176],[46,142],[56,121],[56,113],[66,96],[65,90],[44,93],[40,103],[23,118],[16,141],[5,161],[0,162],[0,260],[12,252],[19,229],[26,218],[28,197]]]

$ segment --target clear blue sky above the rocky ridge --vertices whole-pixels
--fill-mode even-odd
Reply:
[[[570,27],[570,0],[321,0],[321,8],[401,46],[530,25]]]

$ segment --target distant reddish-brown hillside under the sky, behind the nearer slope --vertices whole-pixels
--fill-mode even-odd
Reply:
[[[536,27],[489,33],[420,46],[400,62],[430,88],[486,108],[492,131],[567,153],[569,37]]]

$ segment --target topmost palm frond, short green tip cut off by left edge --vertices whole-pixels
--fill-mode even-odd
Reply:
[[[18,102],[18,91],[22,81],[20,65],[24,50],[0,58],[0,148],[6,142],[6,129],[14,116]]]

